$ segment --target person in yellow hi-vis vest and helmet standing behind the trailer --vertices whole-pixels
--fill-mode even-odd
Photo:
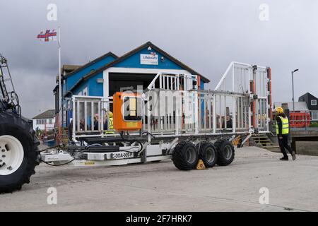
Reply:
[[[289,133],[289,121],[286,117],[282,107],[276,107],[276,134],[278,137],[279,147],[281,148],[281,153],[283,157],[281,160],[288,160],[288,155],[285,148],[288,150],[290,155],[292,155],[293,160],[296,159],[296,153],[288,145],[288,133]]]

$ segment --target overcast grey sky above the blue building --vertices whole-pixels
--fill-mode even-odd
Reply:
[[[57,4],[57,21],[47,20],[48,4]],[[30,118],[54,108],[57,42],[36,35],[58,25],[62,64],[85,64],[108,51],[120,56],[151,41],[210,78],[208,88],[230,61],[271,66],[273,100],[291,101],[293,69],[300,69],[295,97],[318,96],[317,11],[316,0],[0,0],[0,53]]]

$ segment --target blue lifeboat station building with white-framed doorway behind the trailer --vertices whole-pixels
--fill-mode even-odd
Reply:
[[[194,69],[175,59],[167,52],[146,42],[140,47],[127,52],[122,57],[108,52],[83,66],[73,66],[73,69],[62,69],[62,97],[64,126],[69,124],[71,111],[67,111],[67,99],[71,95],[87,95],[110,97],[123,87],[143,85],[146,88],[155,75],[164,71],[167,73],[184,73],[197,76],[198,88],[204,89],[208,78]],[[57,81],[58,83],[58,81]],[[59,86],[54,88],[56,113],[59,112]]]

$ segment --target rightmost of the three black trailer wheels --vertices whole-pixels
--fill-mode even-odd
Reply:
[[[218,140],[214,143],[216,150],[218,151],[218,160],[216,164],[220,166],[230,165],[234,160],[234,146],[230,141]]]

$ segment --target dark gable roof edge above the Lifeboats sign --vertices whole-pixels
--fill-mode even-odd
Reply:
[[[155,51],[159,52],[160,54],[165,55],[165,57],[167,57],[168,59],[170,59],[171,61],[173,61],[178,66],[182,67],[183,69],[189,71],[190,73],[192,73],[194,75],[201,76],[201,79],[205,83],[210,82],[210,80],[208,80],[208,78],[202,76],[199,72],[194,71],[194,69],[192,69],[189,66],[183,64],[181,61],[175,59],[175,57],[172,57],[170,54],[168,54],[167,52],[163,51],[163,49],[160,49],[159,47],[155,46],[155,44],[153,44],[152,42],[146,42],[145,44],[142,44],[140,47],[137,47],[136,49],[133,49],[130,52],[127,52],[126,54],[122,55],[122,57],[118,57],[114,61],[111,61],[110,63],[106,64],[105,66],[102,66],[100,69],[94,71],[93,73],[89,73],[88,75],[83,76],[83,78],[81,78],[81,80],[79,80],[75,85],[73,85],[73,87],[70,89],[70,91],[72,91],[75,88],[77,88],[78,85],[80,85],[83,81],[88,80],[88,78],[90,78],[92,76],[95,76],[95,75],[97,75],[98,73],[100,73],[102,71],[105,71],[106,69],[114,66],[115,64],[118,64],[121,61],[124,61],[128,57],[131,57],[133,54],[136,54],[137,52],[141,51],[142,49],[144,49],[146,47],[151,47],[152,49],[154,49]]]

